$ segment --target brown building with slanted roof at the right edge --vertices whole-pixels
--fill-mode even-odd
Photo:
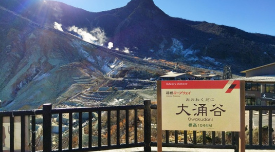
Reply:
[[[245,78],[246,105],[275,105],[275,62],[241,71]]]

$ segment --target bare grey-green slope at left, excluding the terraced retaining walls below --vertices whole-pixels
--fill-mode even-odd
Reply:
[[[2,110],[35,109],[57,103],[59,97],[64,101],[104,86],[109,81],[105,76],[119,75],[121,68],[150,64],[33,23],[5,8],[0,8],[0,16]]]

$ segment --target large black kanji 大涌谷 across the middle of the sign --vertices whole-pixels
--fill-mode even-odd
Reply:
[[[180,106],[177,106],[180,110],[176,115],[183,113],[190,116],[192,113],[194,116],[207,116],[207,112],[214,112],[214,116],[222,116],[222,113],[226,112],[221,104],[212,104],[210,108],[207,106],[209,106],[209,104],[193,104],[192,107],[189,107],[182,103]]]

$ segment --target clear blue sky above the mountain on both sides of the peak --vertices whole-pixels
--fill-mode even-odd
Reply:
[[[130,0],[55,0],[91,12],[125,6]],[[236,27],[275,36],[274,0],[153,0],[172,17]]]

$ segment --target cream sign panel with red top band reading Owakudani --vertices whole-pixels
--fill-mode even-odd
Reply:
[[[161,81],[162,130],[240,131],[240,81]]]

